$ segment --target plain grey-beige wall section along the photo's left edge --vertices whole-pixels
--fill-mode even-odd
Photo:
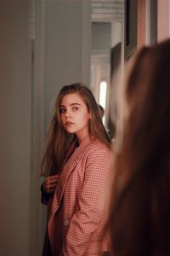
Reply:
[[[28,1],[0,2],[0,250],[30,255],[31,45]]]

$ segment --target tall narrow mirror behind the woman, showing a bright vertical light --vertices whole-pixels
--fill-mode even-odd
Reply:
[[[115,136],[111,122],[111,78],[124,60],[124,0],[92,1],[90,87],[105,108],[104,125]]]

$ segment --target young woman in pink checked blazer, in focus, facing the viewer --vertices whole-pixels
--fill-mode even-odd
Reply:
[[[111,140],[91,90],[64,86],[57,98],[42,159],[42,203],[48,205],[42,255],[103,255]]]

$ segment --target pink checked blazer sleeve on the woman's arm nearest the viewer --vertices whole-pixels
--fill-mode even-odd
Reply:
[[[88,154],[85,177],[78,196],[79,210],[71,218],[61,255],[84,255],[94,231],[105,216],[105,191],[110,183],[110,150],[97,148]]]

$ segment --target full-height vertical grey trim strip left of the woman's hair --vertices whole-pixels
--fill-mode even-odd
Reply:
[[[32,85],[32,166],[31,166],[31,256],[41,255],[43,211],[40,202],[40,162],[44,128],[44,24],[45,2],[35,0],[35,43]]]

